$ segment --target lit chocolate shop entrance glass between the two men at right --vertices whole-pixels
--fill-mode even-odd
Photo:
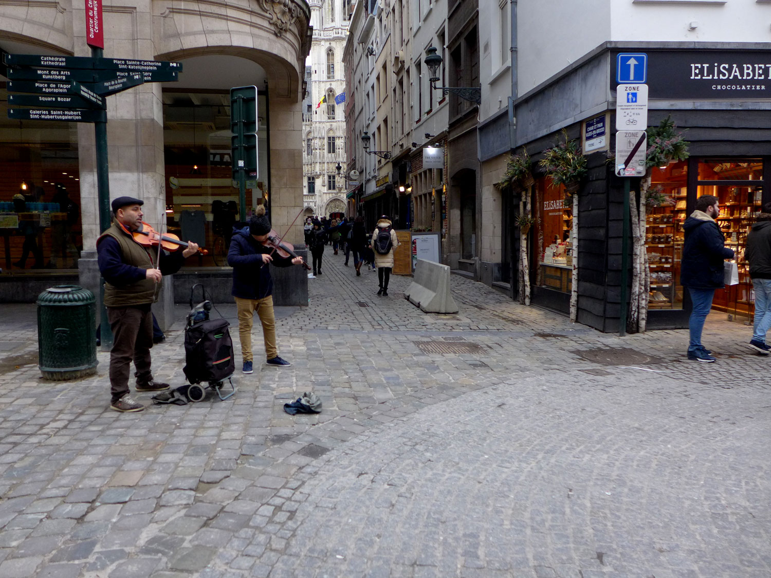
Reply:
[[[720,215],[717,221],[726,237],[726,247],[734,250],[739,266],[739,284],[715,291],[712,307],[726,311],[734,319],[751,321],[755,295],[744,251],[749,229],[763,207],[763,161],[699,160],[696,197],[702,195],[718,197]]]

